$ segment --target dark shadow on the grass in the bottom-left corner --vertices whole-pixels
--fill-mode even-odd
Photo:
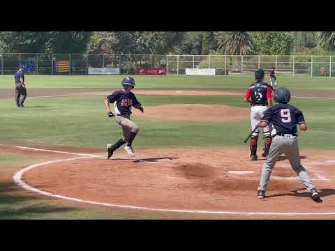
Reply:
[[[47,200],[24,195],[15,183],[0,181],[0,219],[38,218],[43,213],[66,213],[77,208],[48,206]],[[45,218],[46,215],[40,215]]]

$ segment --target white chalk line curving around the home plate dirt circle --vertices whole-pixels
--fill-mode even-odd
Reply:
[[[16,147],[22,147],[22,146],[16,146]],[[28,148],[29,149],[29,148]],[[39,151],[52,151],[52,150],[46,150],[46,149],[38,149]],[[56,153],[59,153],[60,151],[54,151]],[[61,152],[61,153],[68,153],[68,152]],[[72,153],[76,154],[76,153]],[[82,155],[82,153],[79,153]],[[101,157],[99,155],[86,155],[84,157],[77,157],[77,158],[67,158],[67,159],[61,159],[61,160],[50,160],[47,162],[40,162],[34,165],[29,165],[29,167],[25,167],[24,169],[21,169],[19,172],[17,172],[13,176],[13,180],[17,185],[20,185],[21,188],[24,188],[26,190],[29,190],[31,192],[39,193],[40,195],[45,195],[49,197],[59,198],[59,199],[67,199],[70,201],[77,201],[82,202],[86,204],[96,204],[101,206],[110,206],[110,207],[117,207],[117,208],[130,208],[130,209],[137,209],[137,210],[146,210],[146,211],[163,211],[163,212],[172,212],[172,213],[207,213],[207,214],[226,214],[226,215],[335,215],[335,213],[332,212],[325,212],[325,213],[276,213],[276,212],[230,212],[230,211],[207,211],[207,210],[192,210],[192,209],[168,209],[168,208],[149,208],[144,206],[129,206],[129,205],[123,205],[123,204],[110,204],[110,203],[104,203],[104,202],[98,202],[98,201],[89,201],[85,199],[78,199],[73,197],[67,197],[64,195],[54,195],[51,192],[45,192],[43,190],[39,190],[38,188],[34,188],[31,185],[28,185],[22,180],[22,175],[31,170],[35,167],[40,167],[43,165],[49,165],[55,162],[65,162],[65,161],[71,161],[71,160],[80,160],[84,158],[96,158],[96,156]]]

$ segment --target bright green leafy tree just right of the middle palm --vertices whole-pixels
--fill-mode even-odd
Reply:
[[[290,55],[294,36],[283,31],[258,31],[253,33],[255,52],[263,55]]]

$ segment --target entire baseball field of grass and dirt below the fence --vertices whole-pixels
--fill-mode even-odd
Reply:
[[[0,77],[0,219],[335,219],[334,79],[278,76],[308,125],[300,158],[315,203],[285,156],[257,198],[265,158],[251,162],[243,143],[251,77],[132,76],[144,105],[135,157],[121,147],[107,160],[122,134],[103,100],[122,77],[27,75],[24,108]]]

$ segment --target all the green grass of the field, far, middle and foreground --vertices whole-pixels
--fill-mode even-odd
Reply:
[[[147,89],[245,89],[252,78],[241,77],[142,77],[137,84]],[[291,89],[335,89],[334,79],[280,79]],[[0,77],[0,88],[12,88],[10,76]],[[113,77],[48,77],[27,76],[28,88],[119,88],[120,76]],[[103,150],[107,142],[121,136],[114,119],[107,117],[104,96],[34,98],[27,99],[26,107],[15,107],[13,100],[0,99],[1,139],[21,140],[29,144],[75,146]],[[147,96],[137,98],[145,107],[163,104],[221,104],[248,107],[241,96]],[[301,132],[301,149],[334,150],[335,100],[292,98],[303,112],[308,131]],[[167,115],[168,116],[168,115]],[[159,121],[137,117],[140,134],[134,148],[244,146],[243,139],[250,131],[250,121],[234,123],[201,123]],[[246,146],[248,147],[248,146]],[[101,208],[83,211],[74,202],[52,201],[17,188],[10,181],[13,172],[43,158],[29,155],[0,155],[0,218],[49,219],[104,219],[155,218],[163,213],[138,212],[130,215],[121,209]],[[131,213],[134,213],[131,211]],[[176,218],[179,217],[176,215]]]

